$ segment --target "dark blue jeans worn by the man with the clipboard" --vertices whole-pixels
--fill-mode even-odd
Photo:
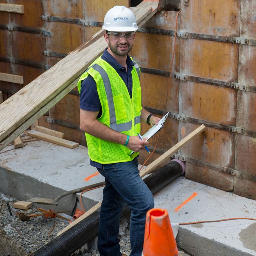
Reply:
[[[118,238],[120,213],[128,204],[131,209],[130,256],[141,256],[143,249],[146,213],[154,208],[151,191],[141,179],[138,160],[103,164],[98,169],[105,177],[103,200],[100,208],[98,250],[100,256],[120,256]]]

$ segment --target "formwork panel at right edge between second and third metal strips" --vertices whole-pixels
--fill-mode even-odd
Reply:
[[[256,131],[256,93],[237,93],[237,121],[236,126]]]

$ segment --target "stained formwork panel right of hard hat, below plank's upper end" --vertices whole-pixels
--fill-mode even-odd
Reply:
[[[150,18],[143,27],[175,30],[176,16],[178,12],[161,11]],[[177,31],[180,30],[180,15],[178,16]]]

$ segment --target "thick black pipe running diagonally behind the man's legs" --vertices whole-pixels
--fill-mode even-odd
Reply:
[[[152,173],[144,179],[152,194],[155,194],[167,184],[178,178],[185,171],[185,164],[173,159],[171,162]],[[122,215],[129,212],[125,207]],[[90,216],[69,228],[60,236],[34,252],[33,256],[68,256],[88,243],[98,234],[100,211],[93,212]],[[31,256],[32,256],[31,255]]]

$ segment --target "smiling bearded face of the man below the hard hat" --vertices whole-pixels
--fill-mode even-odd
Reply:
[[[129,33],[133,32],[110,32],[108,34],[108,46],[113,53],[118,56],[124,56],[132,50],[135,34],[132,35]],[[117,40],[116,38],[122,34],[125,34],[125,36],[122,36],[121,39]]]

